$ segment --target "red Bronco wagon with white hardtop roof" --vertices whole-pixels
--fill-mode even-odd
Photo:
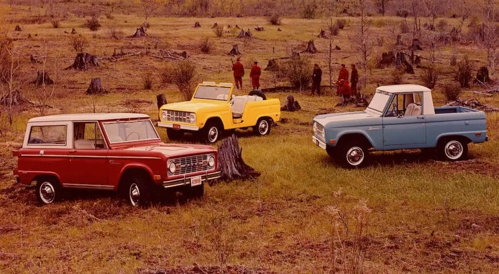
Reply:
[[[162,188],[199,197],[204,182],[220,177],[212,146],[166,144],[150,117],[134,113],[65,114],[28,121],[16,180],[36,182],[36,197],[49,204],[67,188],[120,192],[136,207]]]

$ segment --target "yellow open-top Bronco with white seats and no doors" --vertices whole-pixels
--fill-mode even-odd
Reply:
[[[236,96],[233,89],[231,83],[199,84],[190,101],[161,106],[158,127],[166,128],[169,139],[191,132],[210,143],[226,130],[251,127],[255,135],[269,134],[280,119],[279,99],[266,98],[259,90]]]

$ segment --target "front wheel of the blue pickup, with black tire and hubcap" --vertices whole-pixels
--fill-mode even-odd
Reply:
[[[367,164],[369,158],[367,149],[363,142],[349,141],[341,144],[333,157],[343,167],[360,168]]]

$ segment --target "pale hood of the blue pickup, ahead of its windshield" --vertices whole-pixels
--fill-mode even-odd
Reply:
[[[318,115],[313,120],[324,127],[357,126],[359,124],[370,124],[372,120],[379,120],[379,115],[366,111],[343,112]]]

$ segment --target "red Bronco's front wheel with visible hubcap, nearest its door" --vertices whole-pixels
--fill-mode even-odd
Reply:
[[[133,176],[123,189],[123,198],[132,207],[147,207],[151,202],[151,183],[144,177]]]

